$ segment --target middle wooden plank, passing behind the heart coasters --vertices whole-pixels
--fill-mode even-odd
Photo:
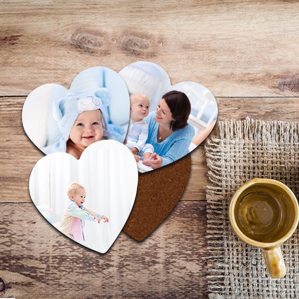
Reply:
[[[30,202],[28,180],[35,163],[43,157],[25,135],[21,125],[21,107],[25,98],[0,100],[0,202]],[[218,120],[243,119],[298,121],[297,98],[217,98]],[[216,123],[217,126],[217,123]],[[13,130],[12,130],[13,128]],[[216,128],[212,131],[215,134]],[[192,152],[190,179],[181,200],[205,200],[207,179],[203,145]],[[18,197],[16,197],[18,194]]]

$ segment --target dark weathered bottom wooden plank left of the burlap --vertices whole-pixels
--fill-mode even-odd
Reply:
[[[1,204],[0,296],[207,298],[205,209],[178,203],[144,241],[122,232],[103,255],[53,229],[33,204]]]

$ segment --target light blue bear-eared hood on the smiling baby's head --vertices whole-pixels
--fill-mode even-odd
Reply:
[[[54,144],[52,152],[66,151],[66,141],[77,117],[84,111],[100,109],[102,113],[102,124],[107,134],[108,119],[107,107],[112,100],[112,93],[109,89],[102,87],[94,94],[68,92],[66,96],[53,103],[53,118],[57,121],[62,138]],[[105,134],[104,133],[104,134]],[[107,137],[107,136],[105,136]]]

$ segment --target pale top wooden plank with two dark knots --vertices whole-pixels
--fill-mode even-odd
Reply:
[[[299,1],[12,0],[0,11],[0,95],[139,60],[217,97],[299,94]]]

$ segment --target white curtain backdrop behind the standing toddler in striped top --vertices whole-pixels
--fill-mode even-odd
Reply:
[[[81,184],[86,191],[85,207],[107,215],[114,241],[135,200],[138,183],[136,162],[130,150],[117,141],[100,141],[87,149],[80,160],[57,152],[38,161],[29,180],[30,195],[40,211],[50,210],[51,222],[56,223],[62,220],[68,201],[68,187],[72,182]],[[94,246],[95,226],[89,222],[85,221],[84,244],[100,251]],[[104,224],[99,227],[105,230]]]

